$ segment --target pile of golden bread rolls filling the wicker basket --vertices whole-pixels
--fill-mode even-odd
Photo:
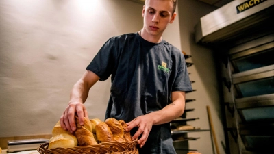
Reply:
[[[108,118],[103,122],[98,118],[84,118],[84,125],[80,125],[75,116],[75,122],[77,129],[75,133],[70,133],[62,129],[58,121],[53,127],[48,149],[96,145],[100,142],[132,142],[132,136],[125,131],[127,124],[123,120]]]

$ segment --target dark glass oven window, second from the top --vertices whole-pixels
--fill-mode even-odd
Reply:
[[[274,61],[274,60],[273,60]],[[274,77],[236,84],[238,97],[253,97],[274,93]]]

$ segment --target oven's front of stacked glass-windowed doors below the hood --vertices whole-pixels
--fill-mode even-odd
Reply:
[[[271,153],[274,145],[274,34],[229,51],[242,153]]]

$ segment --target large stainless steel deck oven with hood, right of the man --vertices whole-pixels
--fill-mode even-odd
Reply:
[[[226,153],[231,154],[274,153],[274,1],[236,12],[249,2],[232,1],[195,27],[196,42],[211,48],[220,64]]]

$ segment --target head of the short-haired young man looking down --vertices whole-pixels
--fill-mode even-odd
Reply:
[[[173,2],[169,0],[147,0],[142,9],[145,32],[151,36],[162,36],[169,23],[173,23]]]

